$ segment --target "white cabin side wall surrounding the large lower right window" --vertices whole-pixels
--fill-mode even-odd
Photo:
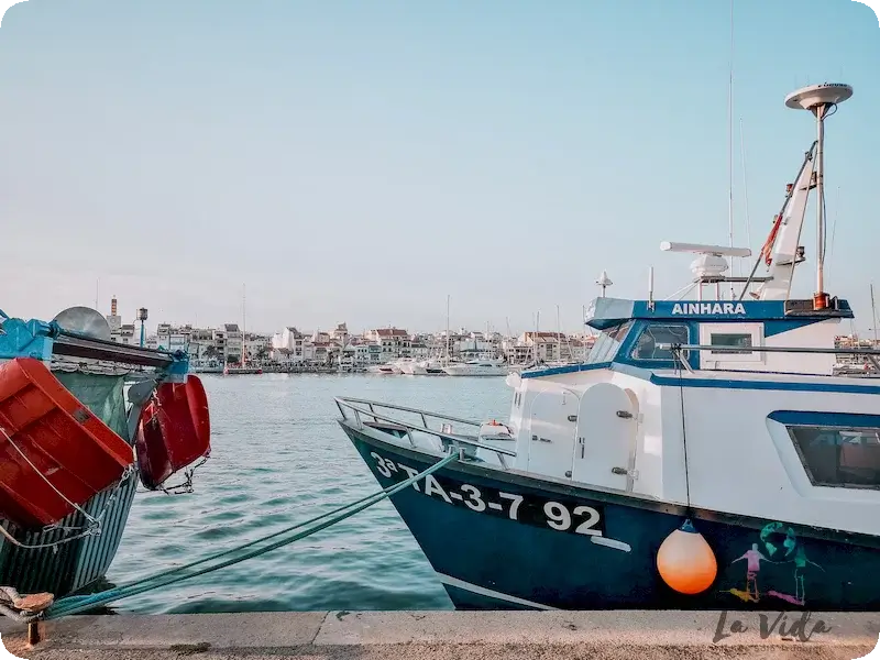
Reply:
[[[666,403],[676,398],[679,388],[664,389],[664,450],[671,450],[681,410]],[[788,432],[771,422],[777,427],[771,435],[767,419],[773,410],[876,415],[876,395],[691,387],[684,391],[684,405],[692,506],[880,534],[880,491],[813,486]],[[842,501],[847,506],[842,507]]]

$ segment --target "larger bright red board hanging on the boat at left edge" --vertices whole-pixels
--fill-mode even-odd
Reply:
[[[118,482],[128,442],[33,358],[0,365],[0,517],[45,527]]]

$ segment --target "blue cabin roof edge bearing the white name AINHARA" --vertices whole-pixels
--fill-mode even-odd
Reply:
[[[586,308],[585,323],[605,330],[629,320],[669,321],[780,321],[854,318],[849,302],[832,298],[827,309],[813,309],[813,300],[626,300],[595,298]]]

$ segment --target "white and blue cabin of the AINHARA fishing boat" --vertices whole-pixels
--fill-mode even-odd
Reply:
[[[880,384],[832,375],[851,317],[845,300],[598,298],[586,362],[508,376],[514,468],[781,520],[807,497],[815,522],[880,531]]]

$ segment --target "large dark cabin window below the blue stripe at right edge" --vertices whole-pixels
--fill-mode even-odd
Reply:
[[[880,428],[790,426],[815,486],[880,488]]]

